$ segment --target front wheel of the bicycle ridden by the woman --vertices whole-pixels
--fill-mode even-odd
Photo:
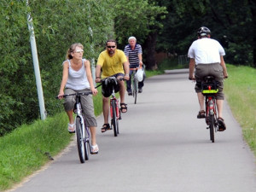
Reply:
[[[83,138],[83,128],[81,124],[81,118],[76,118],[76,135],[77,135],[77,144],[79,150],[79,159],[81,163],[85,162],[85,143]]]

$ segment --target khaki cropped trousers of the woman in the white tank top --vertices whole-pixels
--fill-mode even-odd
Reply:
[[[72,94],[75,92],[83,92],[83,91],[88,91],[90,89],[84,89],[84,90],[73,90],[67,88],[64,93],[65,94]],[[70,111],[73,110],[74,104],[76,103],[75,101],[75,96],[67,96],[65,98],[65,101],[63,103],[65,111]],[[94,106],[93,106],[93,100],[92,96],[81,96],[81,104],[82,104],[82,109],[84,111],[84,119],[86,122],[86,125],[91,127],[91,126],[97,126],[96,122],[96,116],[94,113]]]

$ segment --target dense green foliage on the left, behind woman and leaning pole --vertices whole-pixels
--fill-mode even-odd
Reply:
[[[70,44],[84,44],[84,55],[91,59],[102,50],[106,39],[113,37],[113,20],[105,10],[108,1],[31,0],[29,8],[24,2],[0,2],[0,49],[3,53],[0,61],[0,135],[39,117],[26,24],[28,13],[32,16],[38,44],[45,108],[49,114],[62,110],[55,96],[61,84],[61,63]]]

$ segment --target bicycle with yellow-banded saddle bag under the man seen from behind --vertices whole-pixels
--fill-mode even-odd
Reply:
[[[206,76],[201,82],[202,94],[205,96],[206,123],[210,129],[210,139],[214,143],[214,132],[218,131],[218,111],[216,105],[216,93],[218,93],[218,81],[213,76]]]

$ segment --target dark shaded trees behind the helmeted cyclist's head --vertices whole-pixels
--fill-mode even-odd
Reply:
[[[255,1],[160,0],[160,3],[167,7],[168,15],[158,37],[158,50],[185,55],[197,38],[198,28],[207,26],[212,38],[224,46],[225,61],[253,66]]]

